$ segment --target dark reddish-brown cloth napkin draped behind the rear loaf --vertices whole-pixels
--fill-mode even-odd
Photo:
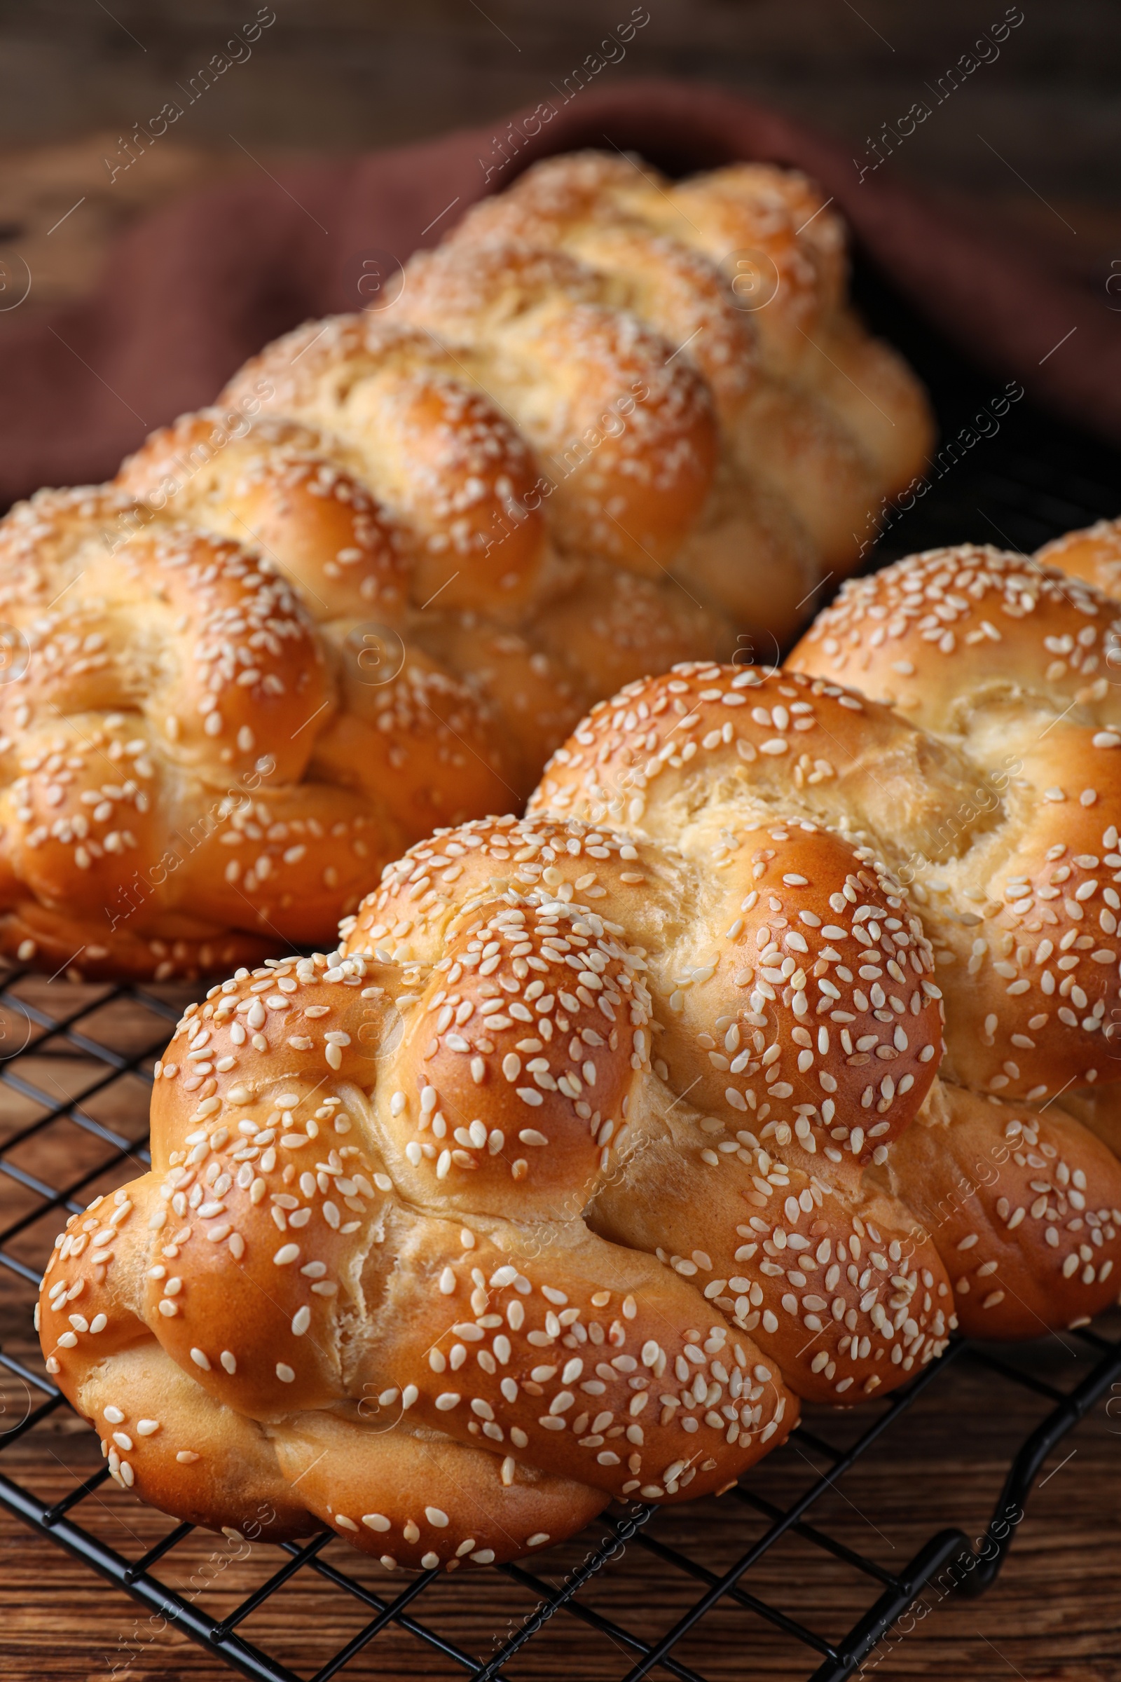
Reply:
[[[672,173],[743,158],[805,170],[933,326],[995,378],[1121,442],[1121,316],[1104,296],[913,188],[860,180],[844,145],[765,106],[696,82],[630,81],[424,145],[277,178],[262,170],[146,217],[92,294],[0,320],[2,501],[109,478],[148,431],[212,402],[267,340],[361,308],[370,252],[403,262],[526,163],[576,146],[634,150]]]

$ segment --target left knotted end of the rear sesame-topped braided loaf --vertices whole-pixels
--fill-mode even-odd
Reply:
[[[0,553],[27,651],[0,688],[8,957],[198,974],[356,903],[407,831],[308,777],[336,683],[286,580],[113,489],[40,493]]]

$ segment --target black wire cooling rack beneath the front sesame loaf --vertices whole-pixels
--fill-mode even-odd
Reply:
[[[0,1065],[0,1263],[20,1299],[25,1332],[39,1273],[64,1211],[84,1208],[97,1191],[148,1164],[145,1117],[151,1065],[183,997],[182,991],[176,996],[170,987],[89,986],[20,972],[12,972],[0,986],[0,1053],[7,1051],[7,1061]],[[69,1176],[62,1172],[67,1167]],[[18,1327],[13,1341],[18,1341]],[[0,1504],[133,1595],[163,1626],[192,1637],[234,1670],[269,1682],[301,1679],[284,1657],[266,1650],[244,1626],[271,1596],[294,1593],[296,1579],[306,1573],[318,1578],[319,1588],[329,1586],[338,1596],[339,1621],[343,1606],[358,1618],[355,1633],[318,1665],[314,1682],[346,1670],[388,1630],[398,1640],[407,1635],[417,1645],[415,1660],[395,1669],[395,1675],[444,1674],[425,1669],[425,1662],[439,1658],[450,1674],[474,1682],[497,1682],[499,1677],[516,1682],[528,1674],[528,1645],[556,1615],[580,1620],[602,1637],[608,1657],[617,1662],[610,1674],[625,1677],[625,1682],[652,1672],[679,1677],[681,1682],[704,1682],[703,1660],[686,1660],[686,1643],[689,1653],[696,1652],[706,1620],[728,1608],[763,1620],[787,1638],[795,1653],[803,1653],[805,1667],[787,1674],[812,1677],[812,1682],[840,1682],[854,1674],[919,1591],[933,1586],[939,1596],[950,1591],[973,1595],[993,1581],[1044,1460],[1121,1378],[1121,1337],[1109,1341],[1084,1327],[1064,1341],[1067,1356],[1074,1357],[1066,1362],[1071,1374],[1066,1386],[1055,1383],[1054,1362],[1040,1361],[1034,1347],[1025,1357],[1024,1351],[1003,1354],[960,1341],[941,1362],[926,1367],[906,1391],[877,1410],[808,1410],[790,1443],[724,1497],[723,1512],[729,1502],[736,1512],[731,1522],[724,1517],[733,1549],[719,1569],[697,1558],[699,1549],[682,1546],[677,1514],[630,1505],[600,1517],[576,1541],[575,1551],[571,1546],[563,1556],[553,1551],[560,1556],[560,1569],[551,1569],[546,1554],[534,1559],[534,1569],[509,1564],[464,1579],[435,1571],[408,1579],[378,1574],[370,1561],[345,1549],[331,1534],[306,1546],[262,1544],[254,1549],[259,1581],[237,1605],[215,1616],[182,1581],[185,1573],[190,1574],[190,1563],[178,1573],[175,1569],[176,1556],[188,1547],[190,1524],[148,1512],[150,1526],[158,1526],[153,1541],[134,1537],[129,1546],[121,1526],[113,1539],[106,1537],[99,1494],[109,1478],[106,1465],[87,1477],[74,1473],[62,1494],[54,1490],[49,1497],[17,1478],[12,1463],[20,1445],[37,1431],[57,1428],[59,1415],[69,1413],[40,1359],[32,1354],[27,1336],[24,1342],[27,1352],[22,1357],[0,1352],[0,1388],[7,1420],[12,1421],[3,1430],[7,1421],[0,1416]],[[988,1531],[976,1539],[976,1546],[960,1527],[936,1529],[903,1568],[887,1569],[834,1534],[835,1524],[827,1527],[815,1509],[827,1497],[844,1495],[845,1477],[876,1453],[886,1433],[904,1428],[911,1410],[933,1386],[946,1384],[963,1362],[985,1369],[1000,1386],[1039,1398],[1042,1418],[1013,1455]],[[1000,1406],[1000,1398],[993,1396],[992,1404]],[[52,1450],[49,1453],[59,1460]],[[763,1470],[765,1477],[760,1475]],[[775,1499],[776,1492],[783,1494],[783,1500]],[[123,1495],[113,1485],[108,1494],[113,1499]],[[803,1544],[797,1568],[802,1581],[813,1579],[825,1556],[849,1568],[849,1588],[840,1608],[845,1633],[832,1638],[820,1633],[785,1610],[780,1596],[756,1588],[753,1571],[773,1549],[790,1541]],[[608,1615],[595,1605],[592,1589],[608,1578],[625,1551],[632,1556],[639,1551],[659,1564],[662,1579],[669,1571],[681,1579],[681,1586],[696,1591],[696,1598],[677,1595],[674,1605],[681,1601],[681,1611],[659,1635],[649,1633],[650,1608],[640,1603],[637,1615],[629,1618]],[[161,1579],[160,1573],[166,1576],[168,1571],[180,1588]],[[506,1598],[499,1635],[491,1635],[491,1650],[481,1655],[479,1642],[464,1645],[442,1626],[449,1613],[455,1621],[449,1596],[466,1596],[476,1605],[492,1601],[499,1578],[506,1579],[503,1588],[516,1588],[519,1598],[513,1603]],[[193,1574],[190,1581],[195,1581]],[[832,1621],[839,1621],[837,1610]],[[736,1674],[751,1674],[746,1658],[743,1672]]]

